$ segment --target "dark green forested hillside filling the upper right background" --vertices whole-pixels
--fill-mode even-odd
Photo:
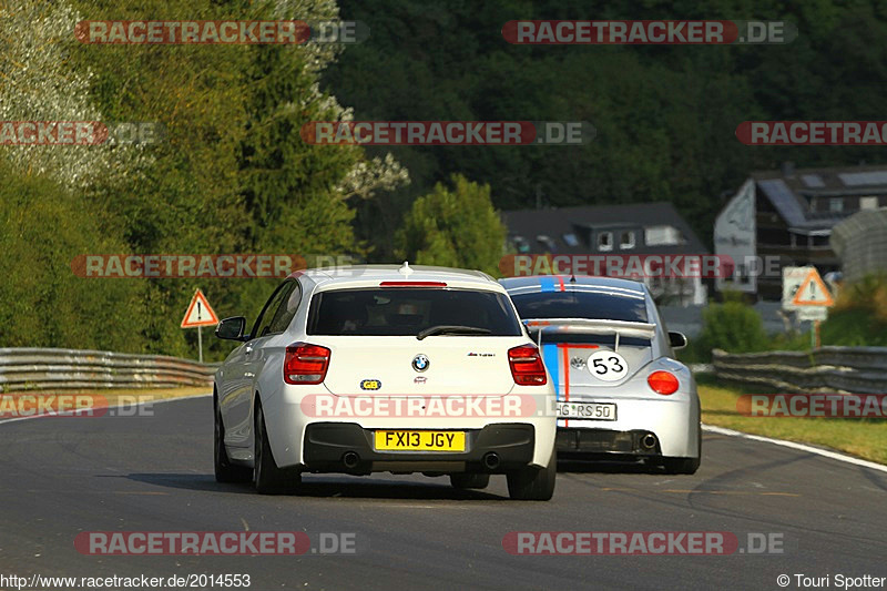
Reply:
[[[412,184],[357,205],[358,236],[391,252],[401,212],[452,173],[483,179],[501,210],[671,201],[703,241],[724,191],[751,171],[887,162],[878,146],[746,146],[748,120],[878,120],[887,84],[883,0],[340,0],[373,23],[325,81],[357,119],[590,121],[579,147],[427,147],[392,152]],[[512,45],[512,19],[743,19],[797,26],[762,45]],[[408,32],[409,34],[405,34]],[[848,59],[848,57],[853,57]],[[385,80],[385,84],[377,83]],[[363,227],[361,227],[363,226]],[[383,228],[383,232],[378,232]]]

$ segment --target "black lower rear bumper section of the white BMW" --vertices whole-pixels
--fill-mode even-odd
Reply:
[[[497,424],[482,429],[466,429],[466,451],[377,451],[374,429],[354,422],[314,422],[305,428],[305,469],[318,472],[367,475],[383,470],[467,471],[500,473],[522,468],[533,460],[536,429],[528,424]],[[550,448],[549,448],[550,449]],[[357,454],[355,466],[346,467],[345,455]],[[485,456],[495,454],[498,466],[485,466]]]

